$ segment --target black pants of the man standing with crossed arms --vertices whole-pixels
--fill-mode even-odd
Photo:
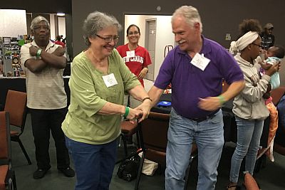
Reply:
[[[30,109],[33,139],[36,146],[36,162],[39,169],[49,169],[48,154],[50,130],[56,145],[57,168],[69,167],[69,155],[61,123],[66,117],[67,107],[57,110]]]

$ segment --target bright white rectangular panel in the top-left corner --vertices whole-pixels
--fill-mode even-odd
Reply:
[[[0,9],[0,36],[18,37],[27,34],[26,10]]]

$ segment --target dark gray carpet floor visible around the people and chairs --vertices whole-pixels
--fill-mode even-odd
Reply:
[[[16,181],[19,190],[59,190],[59,189],[74,189],[76,179],[67,178],[63,174],[59,173],[56,169],[56,151],[54,147],[53,139],[51,138],[50,155],[51,155],[51,170],[48,171],[43,179],[33,179],[33,171],[36,170],[36,160],[34,156],[34,144],[33,136],[31,133],[31,118],[28,115],[26,120],[26,128],[24,134],[21,136],[22,142],[32,164],[28,165],[24,154],[21,152],[19,144],[17,142],[11,142],[12,144],[12,162],[14,170],[16,171]],[[230,159],[234,151],[233,143],[226,144],[223,150],[222,159],[219,162],[219,175],[217,177],[216,189],[224,190],[228,184]],[[123,156],[123,148],[119,147],[118,157]],[[274,153],[275,162],[267,160],[265,166],[255,174],[255,178],[259,182],[261,189],[263,190],[284,190],[285,189],[285,157]],[[71,166],[72,167],[72,166]],[[118,165],[115,167],[113,179],[110,184],[110,190],[128,190],[135,188],[134,181],[123,181],[116,175]],[[164,174],[163,169],[161,172],[156,172],[154,176],[142,175],[140,179],[140,188],[147,190],[162,190],[164,189]],[[190,171],[190,181],[188,189],[196,189],[197,184],[197,159],[194,160]],[[242,176],[239,178],[239,184],[242,184]],[[242,189],[244,189],[242,187]]]

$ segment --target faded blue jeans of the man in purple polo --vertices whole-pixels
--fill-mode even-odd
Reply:
[[[167,134],[165,189],[184,189],[185,171],[190,161],[193,142],[198,148],[197,189],[214,189],[224,145],[223,127],[221,110],[207,120],[195,122],[178,115],[172,108]]]

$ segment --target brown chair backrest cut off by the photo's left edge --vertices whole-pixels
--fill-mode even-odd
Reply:
[[[11,158],[9,112],[0,112],[0,159]]]

